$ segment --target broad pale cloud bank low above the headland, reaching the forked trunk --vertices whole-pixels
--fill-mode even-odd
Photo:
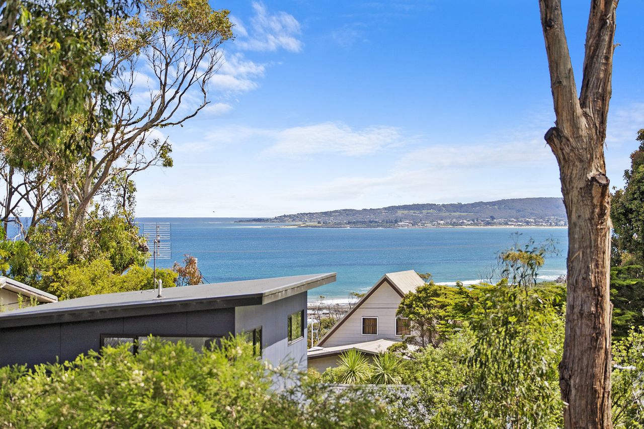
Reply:
[[[337,177],[296,187],[274,198],[333,201],[339,209],[556,196],[558,190],[558,169],[550,149],[540,142],[525,141],[430,146],[406,153],[386,171]],[[374,205],[377,200],[381,204]]]

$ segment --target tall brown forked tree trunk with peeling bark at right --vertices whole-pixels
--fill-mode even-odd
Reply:
[[[618,0],[592,0],[580,94],[560,0],[539,0],[568,218],[568,290],[560,387],[566,428],[611,428],[611,204],[603,144],[611,99]]]

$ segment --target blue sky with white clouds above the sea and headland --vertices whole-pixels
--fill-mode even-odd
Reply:
[[[589,0],[564,0],[578,88]],[[174,166],[138,216],[267,217],[561,196],[538,1],[214,2],[231,10],[211,104],[157,131]],[[617,12],[605,146],[623,186],[644,128],[644,1]]]

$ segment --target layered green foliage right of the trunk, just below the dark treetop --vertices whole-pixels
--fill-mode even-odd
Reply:
[[[632,327],[644,326],[644,268],[611,268],[612,338],[625,338]]]

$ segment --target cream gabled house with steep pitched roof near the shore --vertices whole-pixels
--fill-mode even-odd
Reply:
[[[336,367],[337,356],[357,348],[368,356],[384,352],[411,334],[410,321],[396,316],[401,300],[425,282],[415,271],[384,274],[308,353],[308,366],[323,371]]]

